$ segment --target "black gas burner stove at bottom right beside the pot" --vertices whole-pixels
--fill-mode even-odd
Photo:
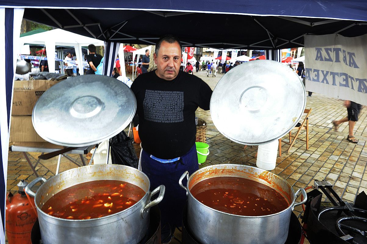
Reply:
[[[310,244],[367,244],[366,194],[351,204],[341,200],[330,182],[315,181],[314,188],[307,193],[302,220]],[[323,194],[328,202],[321,201]]]

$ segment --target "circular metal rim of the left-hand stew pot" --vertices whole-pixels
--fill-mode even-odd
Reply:
[[[85,166],[82,166],[82,167],[94,167],[94,165],[96,165],[96,167],[97,166],[99,166],[98,164],[91,164],[91,165],[85,165]],[[103,165],[119,165],[119,164],[103,164]],[[126,165],[119,165],[120,167],[129,167],[129,166],[126,166]],[[100,167],[100,166],[99,166]],[[109,166],[106,166],[106,167],[109,167]],[[115,166],[113,166],[113,167],[115,167]],[[77,167],[77,168],[81,168],[81,167]],[[62,175],[63,173],[66,173],[66,172],[69,172],[69,171],[72,171],[72,170],[75,170],[75,169],[77,169],[77,168],[72,168],[72,169],[69,169],[69,170],[66,170],[66,171],[63,171],[63,172],[61,172],[60,174],[58,174],[58,175]],[[135,168],[134,168],[135,169]],[[137,169],[135,169],[135,170],[137,170]],[[111,214],[111,215],[107,215],[107,216],[103,216],[103,217],[101,217],[101,218],[94,218],[94,219],[64,219],[64,218],[58,218],[58,217],[55,217],[55,216],[52,216],[52,215],[49,215],[49,214],[47,214],[46,212],[44,212],[44,211],[42,211],[41,210],[41,208],[38,206],[38,204],[36,203],[36,197],[37,197],[37,193],[39,192],[39,189],[43,186],[43,184],[39,187],[39,189],[37,189],[37,192],[36,192],[36,196],[34,197],[34,205],[36,205],[36,208],[37,208],[37,211],[39,211],[41,214],[43,214],[43,215],[46,215],[47,217],[49,217],[49,218],[52,218],[52,219],[56,219],[56,220],[59,220],[59,221],[66,221],[66,222],[87,222],[87,221],[96,221],[96,220],[99,220],[99,219],[105,219],[105,218],[111,218],[112,216],[116,216],[116,215],[119,215],[119,214],[121,214],[122,212],[126,212],[126,211],[128,211],[128,210],[131,210],[132,209],[132,207],[135,207],[137,204],[139,204],[139,203],[141,203],[141,201],[142,201],[142,199],[144,199],[145,197],[146,197],[146,195],[148,195],[149,194],[149,189],[150,189],[150,181],[149,181],[149,178],[148,178],[148,176],[144,173],[144,172],[142,172],[142,171],[140,171],[144,176],[146,176],[146,178],[148,179],[148,191],[147,192],[145,192],[145,194],[144,194],[144,196],[139,200],[139,201],[137,201],[134,205],[132,205],[132,206],[130,206],[130,207],[128,207],[128,208],[126,208],[126,209],[124,209],[124,210],[122,210],[122,211],[120,211],[120,212],[117,212],[117,213],[115,213],[115,214]],[[58,176],[58,175],[54,175],[54,176],[51,176],[47,181],[49,181],[51,178],[54,178],[54,177],[56,177],[56,176]],[[92,181],[86,181],[86,182],[92,182]],[[86,182],[83,182],[83,183],[86,183]],[[45,182],[46,183],[46,182]],[[81,183],[79,183],[79,184],[81,184]],[[77,185],[79,185],[79,184],[77,184]],[[69,188],[69,187],[68,187]],[[68,189],[68,188],[65,188],[65,189]],[[64,189],[64,190],[65,190]],[[149,200],[148,200],[149,201]]]

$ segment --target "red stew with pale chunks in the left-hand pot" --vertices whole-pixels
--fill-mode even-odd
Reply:
[[[94,219],[123,211],[144,195],[140,187],[124,181],[91,181],[55,194],[41,210],[63,219]]]

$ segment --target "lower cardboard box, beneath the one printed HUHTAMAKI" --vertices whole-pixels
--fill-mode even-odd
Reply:
[[[10,142],[46,142],[33,128],[32,116],[11,116]]]

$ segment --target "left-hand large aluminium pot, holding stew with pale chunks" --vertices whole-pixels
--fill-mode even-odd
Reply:
[[[54,194],[68,187],[96,180],[126,181],[139,186],[146,193],[130,208],[96,219],[61,219],[41,210],[44,203]],[[30,188],[40,181],[44,183],[34,194]],[[164,196],[163,185],[151,193],[149,187],[148,176],[135,168],[117,164],[97,164],[64,171],[47,181],[44,178],[37,178],[29,183],[25,190],[34,196],[44,244],[136,244],[148,231],[149,208],[160,203]],[[150,201],[150,198],[158,192],[157,199]]]

